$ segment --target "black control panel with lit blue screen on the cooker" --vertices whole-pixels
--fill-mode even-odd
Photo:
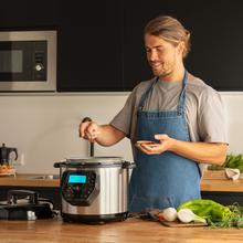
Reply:
[[[73,205],[91,205],[99,192],[95,171],[65,171],[61,180],[63,198]]]

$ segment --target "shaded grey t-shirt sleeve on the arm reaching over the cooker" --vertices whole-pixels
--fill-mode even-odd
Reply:
[[[135,112],[135,91],[128,96],[122,110],[109,123],[112,126],[124,131],[130,138],[131,124]]]

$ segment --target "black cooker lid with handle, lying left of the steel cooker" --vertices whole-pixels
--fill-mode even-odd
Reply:
[[[36,220],[53,218],[53,203],[49,199],[39,198],[29,190],[8,191],[7,201],[0,202],[0,219]]]

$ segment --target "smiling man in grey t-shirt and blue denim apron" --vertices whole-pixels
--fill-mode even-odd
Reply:
[[[228,148],[219,93],[183,65],[190,32],[177,19],[158,17],[146,25],[144,39],[155,77],[134,88],[109,125],[80,126],[82,137],[103,146],[130,138],[131,212],[200,198],[199,163],[223,163]]]

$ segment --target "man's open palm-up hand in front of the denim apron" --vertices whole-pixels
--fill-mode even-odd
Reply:
[[[157,134],[155,135],[155,139],[157,139],[159,142],[137,141],[135,146],[146,155],[160,155],[167,150],[170,150],[173,139],[168,135]]]

